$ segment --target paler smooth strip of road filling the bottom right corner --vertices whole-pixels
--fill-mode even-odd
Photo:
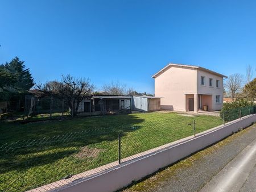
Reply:
[[[255,165],[256,139],[214,176],[200,192],[256,191]]]

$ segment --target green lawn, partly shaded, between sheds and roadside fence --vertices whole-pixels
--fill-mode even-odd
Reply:
[[[11,145],[15,149],[2,148],[0,191],[26,191],[117,161],[120,132],[122,158],[193,135],[193,120],[196,132],[222,123],[215,116],[160,112],[29,124],[0,122],[0,145],[20,140]]]

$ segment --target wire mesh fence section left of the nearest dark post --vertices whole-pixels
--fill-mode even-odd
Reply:
[[[71,175],[112,162],[117,151],[112,142],[115,135],[115,131],[100,129],[2,145],[0,191],[26,191],[65,180],[35,190],[46,191],[67,183]],[[92,173],[96,171],[84,175]],[[73,176],[72,180],[79,177]]]

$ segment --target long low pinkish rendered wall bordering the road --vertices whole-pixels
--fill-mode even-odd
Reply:
[[[171,147],[161,151],[151,153],[147,156],[137,158],[133,161],[123,163],[115,168],[106,170],[96,176],[84,178],[61,187],[55,191],[115,191],[129,185],[132,181],[140,180],[148,174],[154,173],[160,168],[173,164],[184,157],[191,155],[201,149],[208,147],[232,135],[240,128],[250,126],[256,122],[256,114],[248,115],[242,119],[234,120],[225,126],[218,126],[210,130],[201,132],[196,137],[188,137],[181,143],[174,144]]]

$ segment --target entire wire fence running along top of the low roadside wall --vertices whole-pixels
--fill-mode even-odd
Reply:
[[[6,143],[0,147],[0,191],[55,189],[194,137],[207,130],[202,127],[193,117],[172,118]]]

